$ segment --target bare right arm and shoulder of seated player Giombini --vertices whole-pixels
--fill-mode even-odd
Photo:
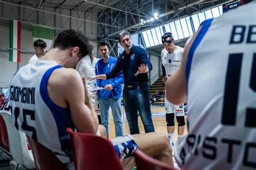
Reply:
[[[54,103],[70,108],[73,124],[77,131],[96,134],[98,118],[85,102],[85,91],[81,77],[72,68],[55,70],[48,81],[49,95]]]

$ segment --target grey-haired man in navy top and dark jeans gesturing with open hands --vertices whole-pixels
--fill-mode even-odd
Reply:
[[[152,64],[145,49],[132,44],[127,31],[118,34],[118,42],[125,49],[117,59],[116,66],[106,74],[96,75],[96,79],[112,79],[119,72],[124,74],[123,102],[131,134],[139,133],[138,111],[146,133],[154,132],[150,110],[149,73]]]

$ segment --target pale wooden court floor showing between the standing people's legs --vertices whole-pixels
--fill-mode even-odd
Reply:
[[[165,121],[165,107],[156,107],[153,106],[151,107],[151,112],[152,112],[152,119],[153,119],[153,123],[154,123],[154,129],[156,130],[156,132],[163,132],[167,134],[167,130],[166,130],[166,121]],[[122,106],[122,120],[123,120],[123,130],[124,130],[124,135],[125,134],[130,134],[129,131],[129,125],[125,116],[125,111],[124,111],[124,106]],[[185,121],[187,120],[186,118],[187,116],[185,116]],[[174,131],[174,141],[177,140],[177,136],[178,136],[178,124],[176,121],[176,118],[174,119],[175,121],[175,131]],[[186,121],[187,122],[187,121]],[[145,133],[144,131],[144,127],[143,127],[143,123],[139,117],[139,130],[140,133]],[[185,128],[185,132],[184,134],[187,134],[187,128]],[[114,123],[113,123],[113,117],[111,115],[111,110],[110,110],[110,118],[109,118],[109,138],[112,139],[115,137],[115,132],[114,132]]]

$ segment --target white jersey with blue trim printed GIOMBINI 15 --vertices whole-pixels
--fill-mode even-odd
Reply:
[[[66,131],[74,129],[70,111],[53,103],[47,90],[51,73],[60,67],[54,61],[39,60],[20,68],[10,83],[10,105],[16,128],[68,163],[73,161]]]

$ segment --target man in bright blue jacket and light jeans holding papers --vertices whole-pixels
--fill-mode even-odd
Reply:
[[[99,53],[102,56],[95,66],[95,74],[105,74],[111,72],[116,66],[117,58],[109,55],[109,47],[106,42],[99,42]],[[114,120],[114,129],[116,130],[116,137],[123,136],[123,123],[121,112],[121,96],[122,84],[124,83],[124,76],[122,72],[118,73],[116,77],[109,80],[97,79],[96,86],[104,87],[97,91],[100,106],[100,117],[102,118],[102,125],[106,128],[107,138],[109,138],[109,107],[112,110]]]

